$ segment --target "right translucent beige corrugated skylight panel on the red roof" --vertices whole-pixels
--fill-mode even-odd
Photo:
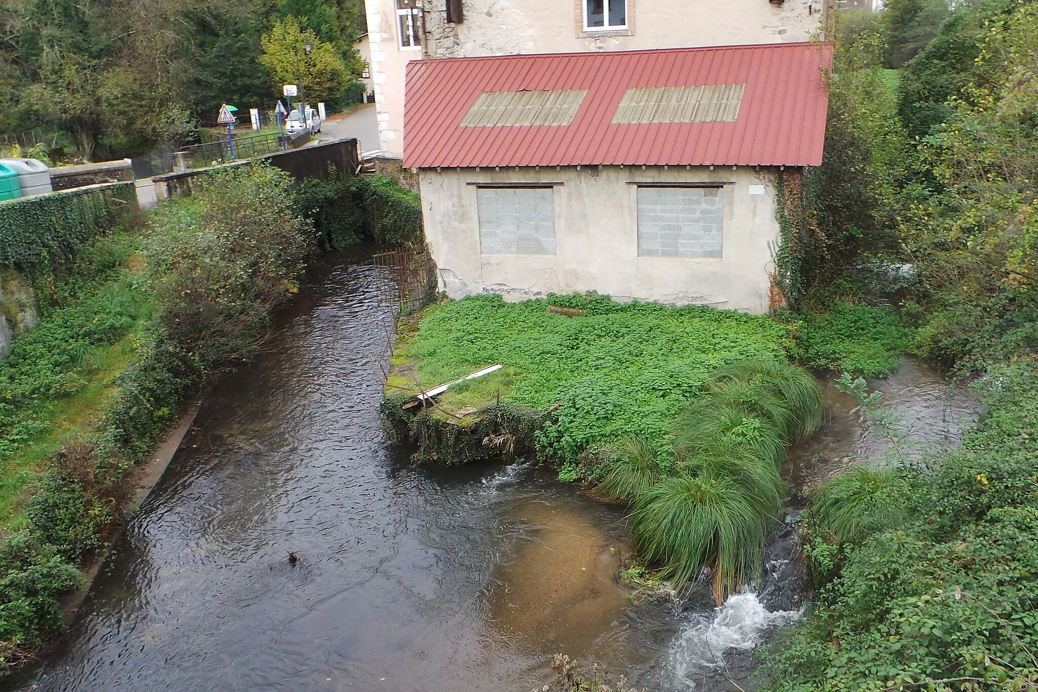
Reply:
[[[709,84],[627,89],[612,122],[735,122],[745,87],[745,84]]]

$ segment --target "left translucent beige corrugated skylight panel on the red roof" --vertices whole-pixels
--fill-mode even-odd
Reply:
[[[484,91],[465,113],[463,128],[562,124],[573,122],[586,89],[569,91]]]

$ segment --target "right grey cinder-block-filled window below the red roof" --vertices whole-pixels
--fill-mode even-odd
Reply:
[[[638,186],[638,254],[722,257],[725,190]]]

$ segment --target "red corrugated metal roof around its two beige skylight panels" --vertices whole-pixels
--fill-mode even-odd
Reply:
[[[786,165],[822,161],[824,44],[414,60],[404,165]],[[735,122],[617,124],[625,89],[745,84]],[[569,126],[460,127],[485,91],[588,89]]]

